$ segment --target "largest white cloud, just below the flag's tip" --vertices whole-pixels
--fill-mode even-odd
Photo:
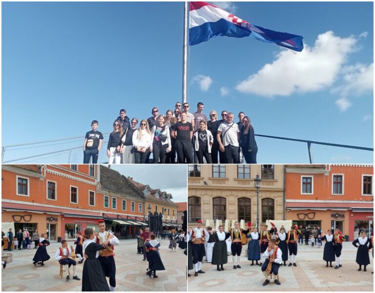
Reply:
[[[348,54],[355,50],[356,42],[353,36],[340,38],[332,31],[320,34],[312,47],[305,44],[304,50],[296,55],[281,51],[273,63],[264,65],[236,89],[264,97],[325,89],[336,80]]]

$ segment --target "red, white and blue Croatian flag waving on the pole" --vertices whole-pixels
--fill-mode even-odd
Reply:
[[[218,36],[251,37],[294,51],[303,50],[302,36],[276,32],[251,24],[206,2],[190,2],[189,44],[196,45]]]

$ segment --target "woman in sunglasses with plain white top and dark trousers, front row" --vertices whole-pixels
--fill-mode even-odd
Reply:
[[[141,120],[139,129],[135,130],[132,138],[135,164],[145,164],[149,147],[151,146],[151,131],[145,119]]]

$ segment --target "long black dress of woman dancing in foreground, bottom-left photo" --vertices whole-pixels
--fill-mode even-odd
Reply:
[[[109,291],[102,265],[96,258],[96,251],[105,249],[102,245],[91,242],[86,246],[84,252],[87,258],[83,263],[82,291]]]

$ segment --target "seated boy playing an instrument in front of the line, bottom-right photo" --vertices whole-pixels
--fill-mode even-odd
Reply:
[[[268,274],[273,273],[275,276],[279,273],[279,267],[282,260],[282,251],[279,249],[279,247],[276,245],[276,240],[271,239],[269,241],[269,245],[267,250],[264,252],[264,256],[266,257],[266,261],[264,262],[261,270],[263,274],[266,277],[266,281],[264,281],[263,286],[266,286],[268,283],[270,283],[270,280],[268,279]],[[275,283],[277,285],[281,285],[280,281],[278,279],[275,279]]]

